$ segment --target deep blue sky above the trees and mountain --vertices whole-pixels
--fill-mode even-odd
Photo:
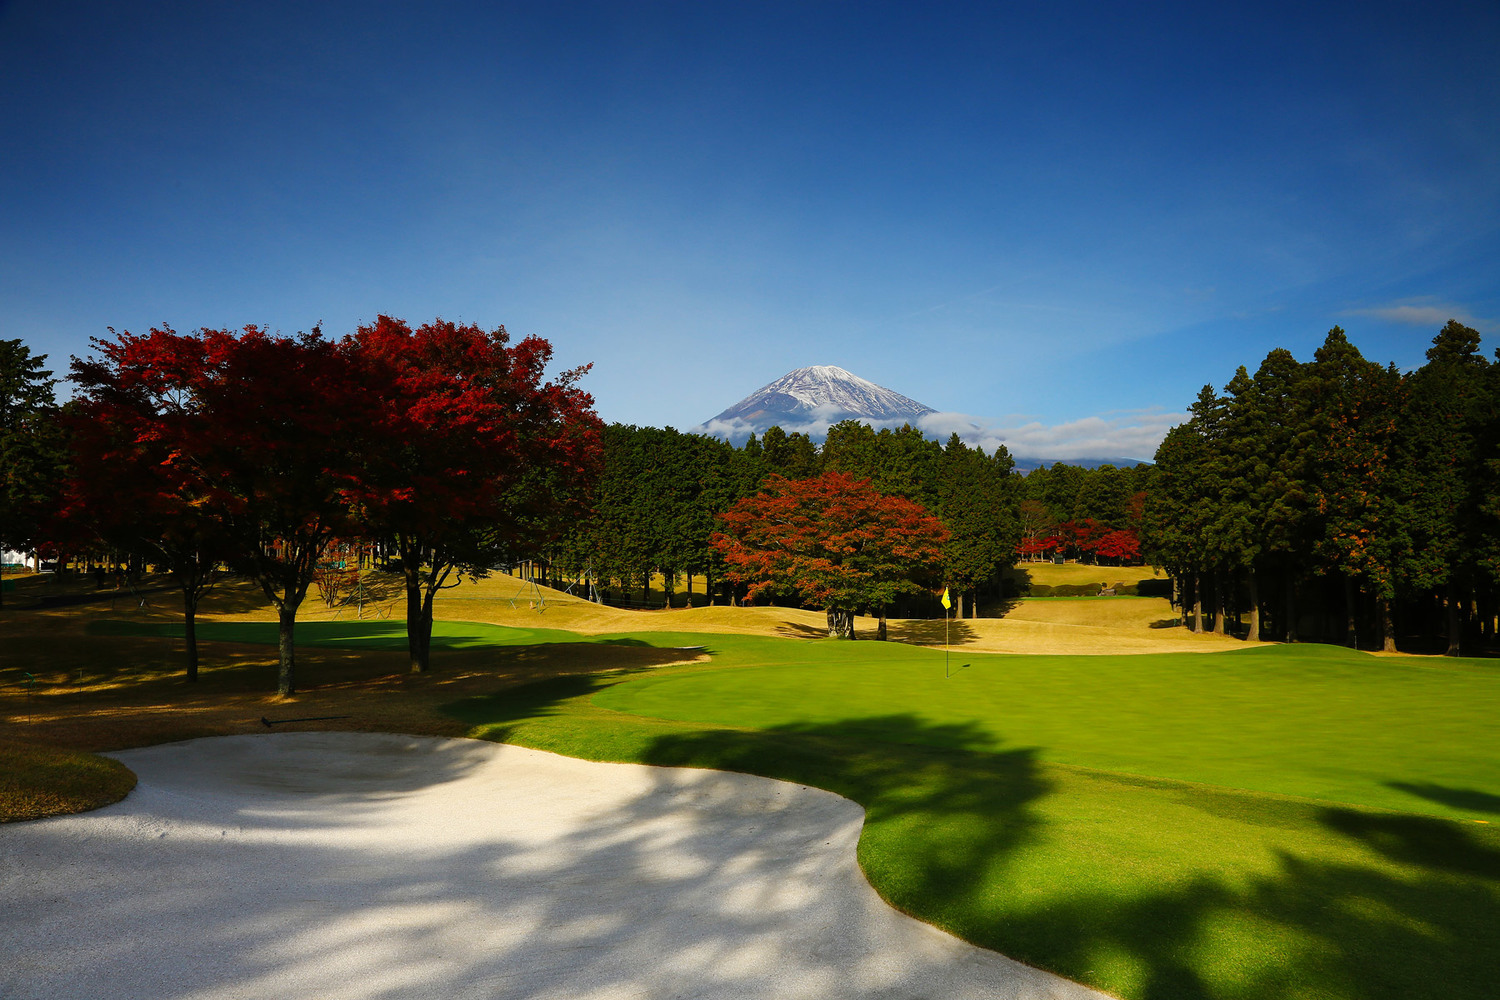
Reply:
[[[444,316],[606,420],[837,364],[1140,454],[1342,325],[1500,343],[1500,6],[0,3],[0,337]]]

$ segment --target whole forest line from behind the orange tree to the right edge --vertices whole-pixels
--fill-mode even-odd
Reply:
[[[552,547],[552,574],[586,576],[618,604],[650,603],[656,574],[678,606],[736,603],[717,516],[771,474],[836,469],[942,519],[962,615],[1023,595],[1012,568],[1028,561],[1144,561],[1170,573],[1190,628],[1478,654],[1500,612],[1500,361],[1479,345],[1450,321],[1426,364],[1401,372],[1335,327],[1311,361],[1276,349],[1222,391],[1206,385],[1155,463],[1134,468],[1020,475],[1004,447],[858,421],[822,445],[771,427],[742,447],[615,424],[594,513]],[[892,610],[938,613],[936,598],[909,604]]]

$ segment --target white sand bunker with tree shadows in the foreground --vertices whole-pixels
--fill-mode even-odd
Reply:
[[[3,997],[1102,997],[888,907],[828,792],[363,733],[116,756],[123,802],[0,826]]]

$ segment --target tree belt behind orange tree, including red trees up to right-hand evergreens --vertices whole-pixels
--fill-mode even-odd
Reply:
[[[848,420],[834,424],[822,445],[771,427],[738,448],[670,427],[606,427],[594,514],[561,538],[552,571],[596,580],[600,597],[615,604],[650,604],[657,574],[675,604],[693,594],[699,604],[738,603],[744,586],[724,579],[711,541],[717,516],[772,474],[804,480],[825,471],[870,480],[880,493],[915,501],[944,522],[951,535],[944,577],[960,615],[980,613],[981,601],[993,606],[1016,597],[1006,571],[1017,558],[1140,561],[1149,465],[1059,463],[1023,477],[1004,445],[986,454],[957,435],[939,444],[910,426],[876,432]],[[686,585],[681,597],[674,595],[678,577]],[[796,595],[782,600],[795,603]],[[896,610],[938,615],[940,609],[933,597]]]

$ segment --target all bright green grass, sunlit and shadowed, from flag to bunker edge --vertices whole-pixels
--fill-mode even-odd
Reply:
[[[219,631],[225,630],[225,631]],[[258,631],[256,631],[258,630]],[[270,625],[204,637],[270,642]],[[435,642],[579,642],[442,624]],[[298,627],[380,646],[399,625]],[[640,633],[706,666],[447,708],[478,736],[813,784],[894,906],[1122,997],[1478,1000],[1500,973],[1500,670],[1336,648],[1006,657]]]

